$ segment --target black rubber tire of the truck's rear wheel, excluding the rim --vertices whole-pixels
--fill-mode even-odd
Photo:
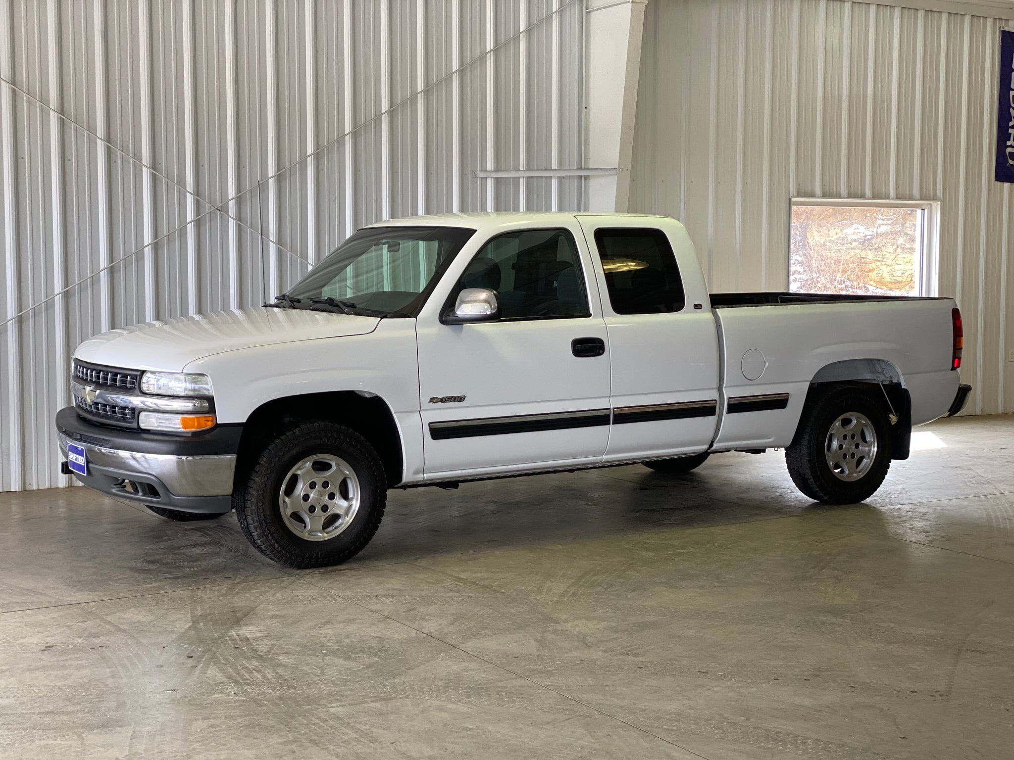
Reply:
[[[850,411],[863,414],[872,423],[877,451],[864,475],[846,481],[831,471],[825,447],[831,425]],[[890,419],[882,393],[875,386],[866,389],[828,385],[811,390],[796,436],[785,450],[785,463],[796,487],[813,501],[827,504],[859,504],[869,499],[887,476],[890,460]]]

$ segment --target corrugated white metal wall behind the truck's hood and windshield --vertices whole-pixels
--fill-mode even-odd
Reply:
[[[91,334],[260,303],[262,261],[271,297],[384,218],[581,208],[580,178],[473,171],[582,165],[583,18],[582,0],[0,0],[0,322],[101,272],[0,325],[0,490],[68,484],[52,421]]]

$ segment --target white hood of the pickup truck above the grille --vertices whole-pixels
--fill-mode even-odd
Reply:
[[[195,360],[227,351],[362,335],[379,321],[304,309],[236,309],[110,330],[89,337],[74,357],[108,367],[178,372]]]

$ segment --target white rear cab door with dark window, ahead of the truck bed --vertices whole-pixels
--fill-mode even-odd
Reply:
[[[612,428],[604,461],[706,451],[718,411],[719,347],[701,265],[664,217],[578,217],[608,334]]]

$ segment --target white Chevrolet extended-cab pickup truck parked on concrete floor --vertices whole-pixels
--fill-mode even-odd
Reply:
[[[366,227],[262,308],[78,347],[63,471],[172,520],[235,510],[295,567],[360,551],[389,487],[784,447],[861,502],[959,411],[949,298],[711,294],[683,227],[482,214]]]

